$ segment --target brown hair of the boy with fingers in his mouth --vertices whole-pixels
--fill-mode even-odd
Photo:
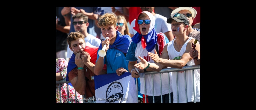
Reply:
[[[77,39],[84,39],[84,35],[81,33],[81,32],[79,32],[79,31],[77,31],[77,32],[71,32],[69,35],[68,35],[68,37],[67,37],[67,41],[68,41],[68,45],[69,45],[69,47],[71,47],[71,42],[72,41],[74,41],[74,40],[77,40]],[[84,40],[84,42],[85,42],[85,40]],[[72,48],[72,47],[71,47]]]

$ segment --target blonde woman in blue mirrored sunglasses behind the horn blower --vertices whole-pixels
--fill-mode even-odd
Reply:
[[[124,16],[122,16],[122,15],[118,15],[117,16],[116,26],[118,26],[117,31],[119,31],[122,35],[126,35],[127,34],[127,35],[130,36],[129,27],[127,25],[127,22],[126,22]]]

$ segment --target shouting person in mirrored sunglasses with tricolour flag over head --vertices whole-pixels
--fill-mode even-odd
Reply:
[[[137,33],[132,37],[132,41],[129,45],[129,49],[126,54],[126,60],[129,61],[128,69],[131,71],[132,77],[139,78],[139,73],[136,72],[134,65],[137,62],[140,62],[140,57],[144,58],[146,61],[154,63],[152,59],[148,56],[148,52],[154,52],[158,50],[159,56],[164,48],[164,45],[169,42],[168,38],[163,33],[156,33],[155,31],[155,18],[154,15],[148,11],[141,12],[135,21],[134,30]],[[150,69],[141,70],[137,68],[139,72],[143,73],[144,71],[152,71]],[[160,73],[159,73],[160,74]],[[140,79],[141,89],[140,93],[148,95],[149,103],[161,103],[161,88],[160,88],[160,75],[153,74],[154,82],[154,101],[153,101],[153,87],[152,87],[152,76],[145,75],[146,83],[146,94],[144,93],[144,78]],[[171,88],[171,103],[173,102],[172,96],[172,75],[170,74],[170,86],[168,82],[168,73],[162,74],[162,98],[163,103],[169,103],[169,88]]]

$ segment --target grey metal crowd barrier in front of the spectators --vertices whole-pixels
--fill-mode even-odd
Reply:
[[[194,87],[194,70],[196,69],[200,69],[201,68],[201,65],[192,65],[192,66],[184,66],[182,69],[179,69],[179,68],[164,68],[162,69],[161,71],[159,72],[156,72],[156,71],[148,71],[148,72],[145,72],[145,75],[152,75],[152,86],[154,87],[154,82],[153,82],[153,74],[158,74],[158,73],[169,73],[169,72],[176,72],[176,74],[178,74],[178,71],[184,71],[184,73],[186,73],[186,70],[192,70],[192,74],[193,74],[193,87]],[[161,103],[163,103],[162,101],[162,79],[161,79],[161,74],[160,75],[160,88],[161,88]],[[94,80],[94,77],[92,76],[92,80]],[[176,81],[178,81],[178,75],[176,75]],[[64,84],[66,83],[68,85],[70,81],[66,81],[66,79],[63,79],[63,80],[60,80],[60,81],[56,81],[56,84]],[[169,77],[169,74],[168,74],[168,82],[169,82],[169,85],[170,85],[170,77]],[[136,90],[137,90],[137,96],[138,96],[138,79],[136,78]],[[176,87],[178,87],[178,82],[176,83]],[[59,88],[60,88],[60,85],[59,85]],[[61,90],[61,89],[60,89]],[[186,103],[187,103],[187,85],[186,85],[186,74],[185,74],[185,90],[186,90]],[[59,91],[60,92],[60,91]],[[67,86],[67,94],[68,93],[68,86]],[[76,92],[76,91],[75,91]],[[147,99],[146,99],[146,85],[145,85],[145,78],[144,78],[144,92],[145,92],[145,103],[147,103]],[[155,99],[154,99],[154,88],[152,89],[152,92],[153,92],[153,103],[155,102]],[[77,93],[77,92],[76,92]],[[76,94],[77,95],[77,94]],[[75,97],[76,97],[75,95]],[[170,93],[170,86],[169,86],[169,102],[171,102],[171,93]],[[194,89],[194,103],[196,103],[196,100],[195,100],[195,89]],[[61,98],[61,97],[60,97]],[[83,99],[85,98],[85,96],[83,95]],[[94,99],[94,97],[90,97],[92,99]],[[177,101],[179,103],[179,92],[178,92],[178,88],[177,88]],[[61,99],[60,99],[60,102],[62,103]],[[77,100],[76,100],[76,103],[77,103]],[[83,103],[95,103],[95,101],[89,101],[88,102],[85,102],[85,100],[83,100]],[[137,103],[138,103],[138,97],[137,97]]]

